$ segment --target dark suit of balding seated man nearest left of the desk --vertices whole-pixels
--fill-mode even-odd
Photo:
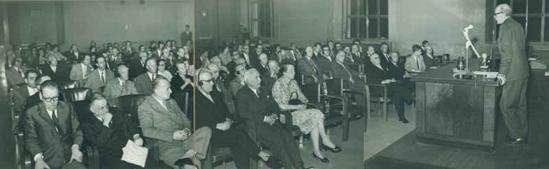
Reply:
[[[388,69],[379,68],[373,64],[366,66],[366,83],[369,84],[381,84],[386,79],[393,79],[388,74]],[[397,109],[397,115],[399,118],[404,118],[404,102],[412,103],[414,96],[400,86],[398,83],[387,83],[387,96],[393,100],[395,108]],[[383,88],[371,87],[370,93],[373,96],[381,96],[383,94]]]

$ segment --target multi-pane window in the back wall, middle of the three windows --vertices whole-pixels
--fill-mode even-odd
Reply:
[[[347,0],[347,38],[389,38],[388,0]]]

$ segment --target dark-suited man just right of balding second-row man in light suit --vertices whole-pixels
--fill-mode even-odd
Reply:
[[[152,94],[152,81],[159,75],[156,74],[156,60],[150,57],[145,62],[147,64],[147,72],[135,77],[135,88],[139,94]]]

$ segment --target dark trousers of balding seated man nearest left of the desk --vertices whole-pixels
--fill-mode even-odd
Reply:
[[[387,96],[393,100],[399,118],[404,118],[404,103],[412,103],[414,96],[398,83],[387,84]]]

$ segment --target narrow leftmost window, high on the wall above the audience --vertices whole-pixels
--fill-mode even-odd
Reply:
[[[250,3],[250,32],[253,37],[271,38],[274,36],[272,0],[253,0]]]

